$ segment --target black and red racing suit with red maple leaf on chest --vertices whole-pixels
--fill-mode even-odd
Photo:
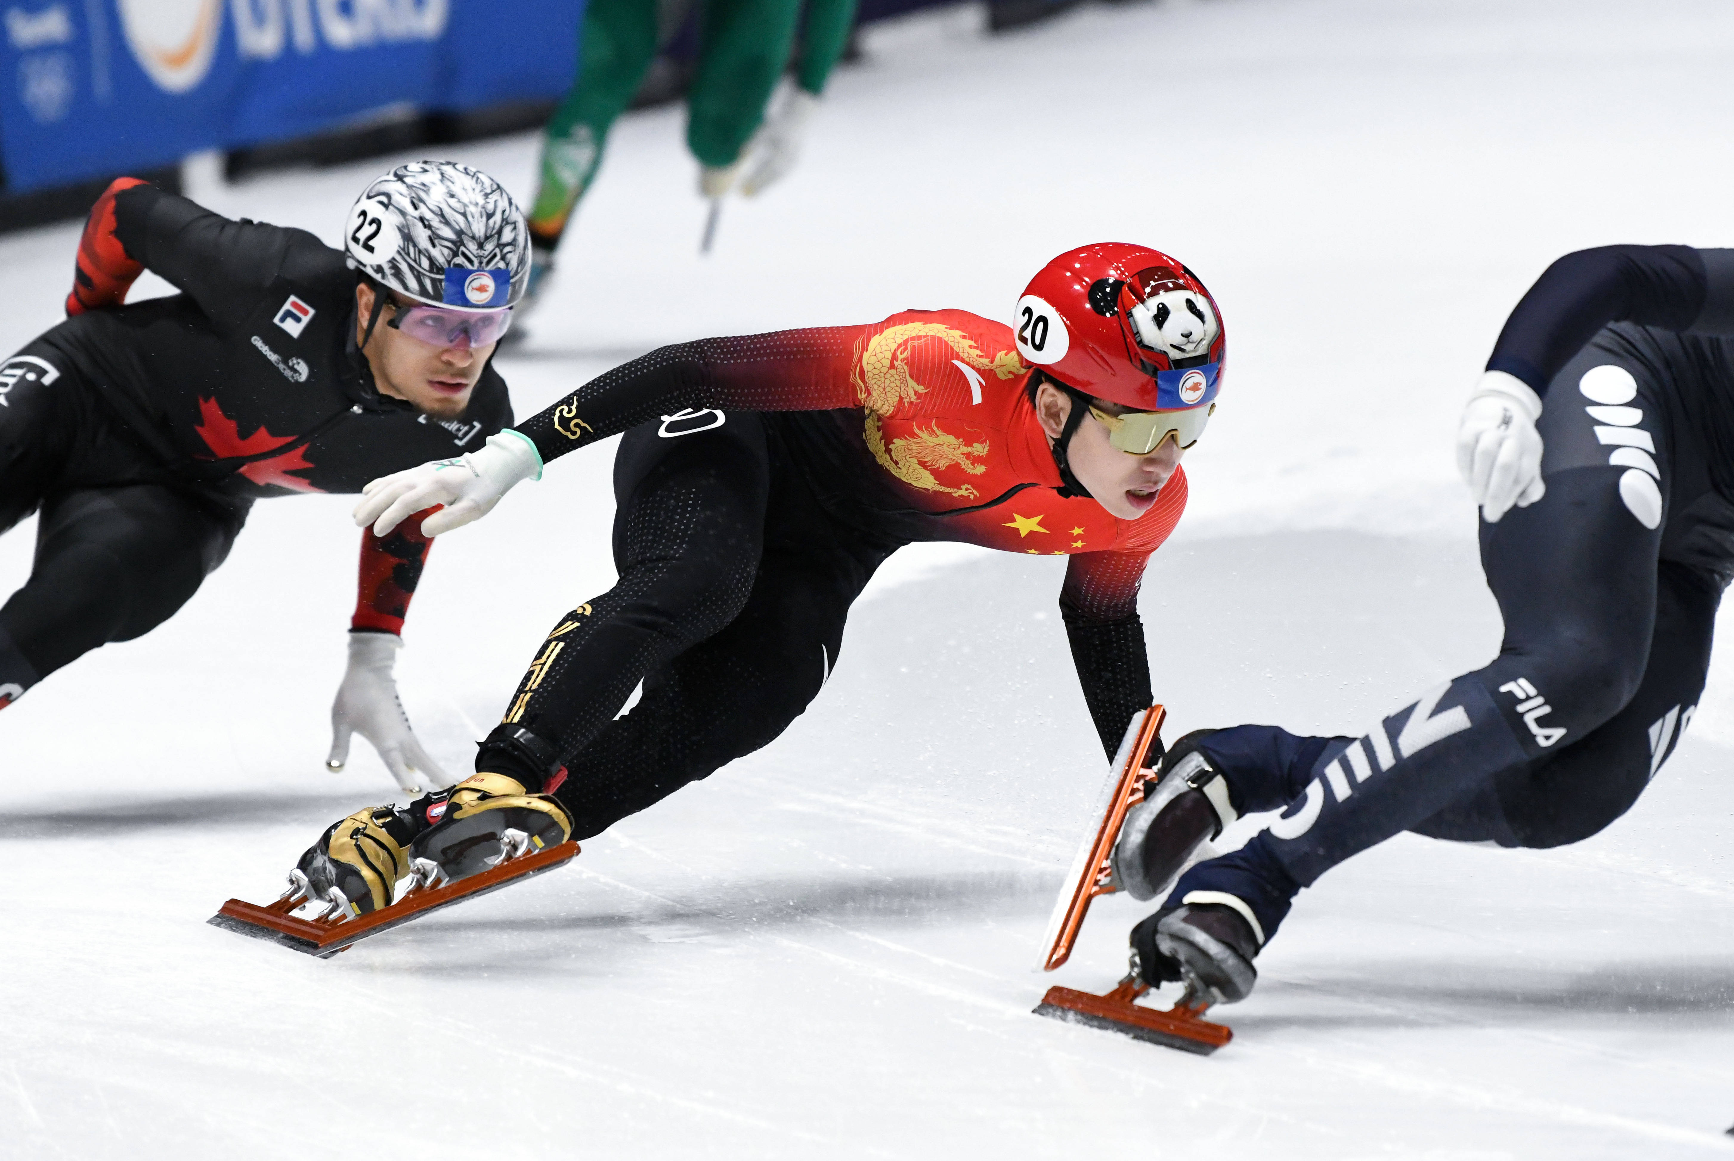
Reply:
[[[179,295],[118,305],[142,269]],[[234,222],[123,179],[90,212],[68,318],[0,363],[0,531],[40,510],[0,607],[0,706],[163,623],[264,496],[361,491],[512,422],[487,368],[461,420],[381,396],[355,281],[298,229]],[[352,628],[399,632],[427,540],[362,543]]]

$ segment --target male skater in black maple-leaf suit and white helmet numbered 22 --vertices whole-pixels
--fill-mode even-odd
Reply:
[[[68,319],[0,363],[0,531],[42,514],[29,580],[0,607],[0,706],[168,620],[255,500],[359,491],[501,439],[489,357],[529,271],[510,194],[463,165],[404,165],[343,233],[333,250],[135,179],[97,201]],[[121,305],[146,269],[180,293]],[[407,790],[449,783],[392,680],[427,550],[418,529],[364,535],[331,710],[328,765],[359,732]]]

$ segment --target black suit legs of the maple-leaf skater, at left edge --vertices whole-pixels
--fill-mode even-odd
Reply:
[[[0,606],[0,706],[168,620],[229,555],[246,502],[161,481],[47,344],[0,363],[0,531],[40,510],[29,580]]]

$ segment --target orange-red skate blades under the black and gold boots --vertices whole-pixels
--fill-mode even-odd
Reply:
[[[482,871],[480,875],[460,878],[454,883],[442,883],[439,887],[413,887],[404,892],[402,899],[395,901],[388,908],[380,908],[378,911],[369,911],[368,915],[359,915],[352,920],[298,918],[291,915],[291,911],[307,902],[307,897],[290,895],[277,899],[269,906],[246,902],[244,899],[231,899],[206,922],[239,935],[271,939],[284,948],[291,948],[293,951],[305,951],[307,954],[319,956],[321,960],[329,960],[338,951],[345,951],[369,935],[388,932],[390,928],[401,927],[413,918],[427,915],[428,911],[439,911],[440,908],[449,908],[454,902],[463,902],[465,899],[499,890],[501,887],[520,878],[529,878],[531,875],[539,875],[570,863],[576,856],[577,843],[564,842],[558,847],[548,847],[546,850],[536,850],[515,859],[506,859],[496,868]]]

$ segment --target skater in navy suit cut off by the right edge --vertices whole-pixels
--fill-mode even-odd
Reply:
[[[1545,408],[1543,408],[1545,401]],[[1155,899],[1144,982],[1236,1001],[1302,887],[1398,831],[1502,847],[1599,833],[1673,750],[1734,576],[1734,250],[1604,246],[1554,262],[1505,323],[1458,430],[1500,654],[1361,738],[1238,725],[1181,738],[1122,826],[1117,878]]]

